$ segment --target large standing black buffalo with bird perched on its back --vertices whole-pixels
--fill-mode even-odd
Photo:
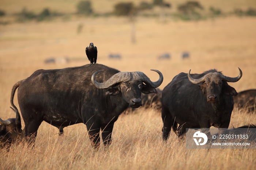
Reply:
[[[76,123],[86,124],[91,144],[98,148],[99,132],[104,145],[111,143],[114,122],[129,106],[142,105],[142,93],[156,93],[163,75],[152,82],[142,72],[120,72],[105,65],[84,65],[54,70],[37,70],[12,89],[11,105],[16,119],[1,124],[14,124],[17,136],[34,142],[42,121],[59,128]],[[18,103],[25,127],[22,131],[19,111],[13,103],[18,88]]]

